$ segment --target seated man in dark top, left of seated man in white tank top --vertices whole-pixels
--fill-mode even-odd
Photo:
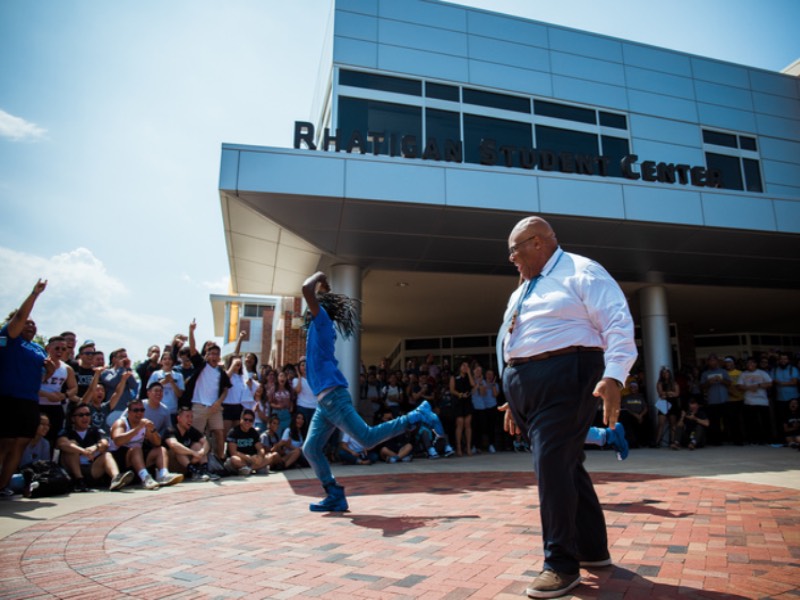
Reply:
[[[109,452],[108,436],[91,424],[91,411],[86,403],[70,406],[67,428],[58,435],[61,464],[74,480],[76,492],[88,492],[107,476],[109,491],[121,490],[133,481],[133,472],[119,472],[117,461]]]

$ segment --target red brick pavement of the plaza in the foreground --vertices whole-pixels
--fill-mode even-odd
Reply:
[[[342,515],[309,513],[318,484],[277,476],[123,492],[0,540],[0,598],[524,597],[542,561],[532,475],[359,473],[339,475]],[[800,596],[796,490],[592,477],[615,566],[573,597]]]

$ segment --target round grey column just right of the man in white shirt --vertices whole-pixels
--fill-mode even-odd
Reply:
[[[655,403],[658,400],[656,383],[661,367],[666,365],[675,374],[672,366],[672,348],[669,342],[669,312],[667,290],[661,285],[652,285],[639,292],[642,325],[645,376],[647,378],[647,400],[655,421]]]

